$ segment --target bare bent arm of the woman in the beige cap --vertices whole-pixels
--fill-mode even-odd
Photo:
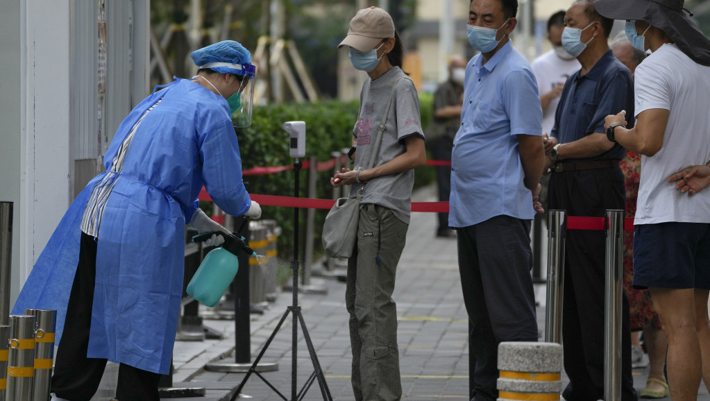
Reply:
[[[374,177],[380,177],[381,175],[396,174],[398,172],[403,172],[406,170],[411,170],[414,167],[424,165],[427,163],[427,153],[424,148],[424,139],[421,136],[413,135],[408,136],[404,140],[405,153],[398,155],[396,158],[383,163],[376,167],[368,168],[366,170],[360,170],[358,178],[360,181],[371,180]],[[342,178],[339,182],[333,182],[334,178],[330,179],[330,182],[335,186],[339,187],[342,185],[351,185],[356,177],[356,171],[338,172],[334,175],[334,178]]]

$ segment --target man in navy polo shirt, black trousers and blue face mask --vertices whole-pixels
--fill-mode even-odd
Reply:
[[[623,174],[619,160],[626,150],[604,134],[610,111],[633,108],[633,81],[608,46],[613,21],[600,16],[591,0],[578,0],[564,16],[562,46],[581,69],[567,79],[559,97],[552,137],[559,140],[547,163],[552,169],[550,209],[569,216],[606,216],[623,209]],[[567,231],[564,260],[562,350],[569,384],[567,401],[603,398],[604,273],[603,231]],[[637,400],[631,375],[628,297],[623,294],[621,400]]]

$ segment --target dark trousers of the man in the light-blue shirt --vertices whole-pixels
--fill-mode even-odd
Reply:
[[[498,397],[498,344],[537,341],[530,221],[496,216],[457,229],[475,401]],[[470,382],[469,382],[470,383]]]

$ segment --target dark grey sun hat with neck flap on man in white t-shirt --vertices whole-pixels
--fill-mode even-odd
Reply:
[[[693,14],[684,9],[683,0],[596,0],[594,8],[606,18],[646,21],[692,60],[710,65],[710,39],[689,18]]]

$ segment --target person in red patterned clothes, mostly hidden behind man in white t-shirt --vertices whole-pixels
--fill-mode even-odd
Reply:
[[[633,78],[636,67],[645,59],[646,53],[633,48],[621,32],[611,42],[611,51],[621,64],[626,65]],[[638,182],[641,174],[641,155],[626,150],[626,155],[619,162],[624,175],[626,188],[626,207],[624,216],[633,219],[636,213]],[[624,231],[623,237],[623,290],[628,295],[629,318],[631,324],[631,367],[645,368],[650,364],[646,387],[639,391],[642,398],[662,398],[669,394],[663,367],[665,366],[668,339],[661,330],[660,320],[648,291],[636,290],[633,285],[633,231]],[[648,355],[643,352],[639,334],[643,331],[643,344]]]

